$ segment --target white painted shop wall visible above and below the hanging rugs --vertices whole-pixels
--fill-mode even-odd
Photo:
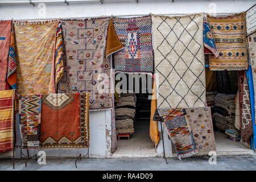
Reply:
[[[116,2],[105,0],[104,4],[94,3],[46,3],[32,5],[1,5],[0,19],[47,19],[47,18],[86,18],[94,16],[110,15],[143,15],[143,14],[190,14],[190,13],[239,13],[254,5],[255,0],[250,1],[145,1],[136,3],[133,0]],[[90,113],[90,157],[109,158],[110,152],[110,110],[94,111]],[[164,128],[163,128],[164,129]],[[160,131],[160,126],[159,126]],[[161,135],[160,135],[161,136]],[[162,137],[160,137],[162,138]],[[172,156],[171,141],[164,131],[164,144],[166,156]],[[32,150],[35,154],[37,150]],[[80,153],[86,155],[87,150],[46,150],[47,156],[77,156]],[[24,151],[24,154],[26,152]],[[158,146],[159,156],[163,155],[163,142],[160,139]],[[19,156],[19,151],[16,152]]]

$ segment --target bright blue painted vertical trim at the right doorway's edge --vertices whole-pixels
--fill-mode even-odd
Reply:
[[[247,81],[249,85],[250,92],[250,102],[251,102],[251,119],[253,120],[253,136],[251,137],[251,149],[255,150],[256,142],[256,125],[255,125],[255,108],[254,108],[254,88],[253,88],[253,71],[249,65],[249,69],[246,70]]]

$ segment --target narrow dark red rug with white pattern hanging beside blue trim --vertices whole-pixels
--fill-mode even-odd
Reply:
[[[241,140],[250,146],[250,137],[253,134],[253,121],[251,121],[250,93],[245,71],[238,72],[238,94]]]

